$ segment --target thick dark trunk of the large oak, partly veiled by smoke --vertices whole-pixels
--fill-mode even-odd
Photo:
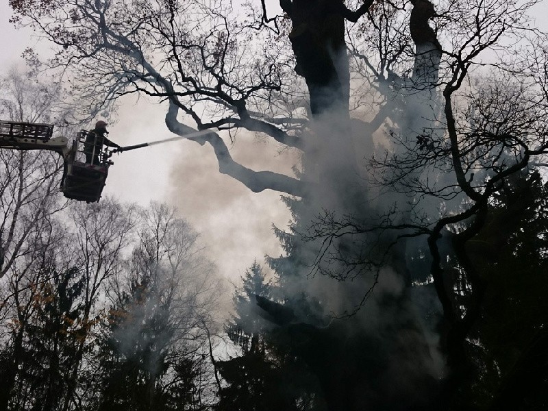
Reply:
[[[305,204],[296,210],[303,225],[312,221],[321,208],[358,219],[373,214],[367,188],[358,172],[360,159],[356,158],[353,140],[371,136],[352,135],[356,130],[351,129],[349,116],[350,75],[345,42],[345,19],[356,21],[371,3],[372,0],[365,1],[357,12],[351,12],[343,0],[280,0],[292,21],[289,38],[295,54],[295,72],[305,79],[310,95],[312,136],[305,145],[304,174],[308,179],[319,180],[314,192],[303,199]],[[428,25],[434,8],[427,0],[412,3],[410,30],[416,45],[416,62],[402,92],[412,100],[410,105],[418,107],[416,110],[431,110],[429,100],[441,54]],[[413,121],[425,117],[422,112],[410,113],[403,119],[402,128],[405,132],[421,128],[421,123]],[[338,249],[346,247],[360,253],[356,249],[359,243],[336,241]],[[310,257],[306,250],[296,252],[303,255],[295,260]],[[405,271],[405,267],[393,268]],[[282,327],[280,332],[290,336],[293,352],[318,377],[329,411],[369,407],[398,411],[436,409],[438,385],[428,368],[429,348],[414,314],[406,310],[410,302],[405,291],[379,302],[393,317],[388,319],[386,314],[386,323],[371,329],[358,319],[338,321],[328,327],[316,327],[299,318],[277,321],[279,312],[286,308],[263,300],[258,297],[261,308]]]

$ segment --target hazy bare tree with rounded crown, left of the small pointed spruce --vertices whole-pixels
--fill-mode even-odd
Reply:
[[[214,397],[206,327],[219,284],[174,208],[151,203],[139,214],[132,259],[108,290],[98,407],[205,410]]]

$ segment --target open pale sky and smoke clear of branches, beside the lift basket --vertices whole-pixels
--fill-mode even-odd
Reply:
[[[434,1],[436,3],[436,1]],[[536,5],[539,25],[548,27],[548,1]],[[0,3],[0,73],[21,64],[25,47],[37,44],[28,29],[14,29],[8,22],[8,1]],[[109,127],[110,138],[120,145],[161,140],[173,136],[164,125],[166,107],[126,99],[120,105],[119,121]],[[91,126],[91,125],[90,125]],[[91,127],[90,127],[91,128]],[[69,138],[71,136],[68,136]],[[231,150],[234,160],[255,170],[270,169],[291,175],[296,153],[277,153],[249,133],[240,132]],[[149,201],[166,201],[201,233],[210,258],[225,277],[236,280],[253,259],[263,262],[265,254],[282,250],[271,231],[274,223],[285,227],[290,214],[279,201],[279,193],[253,193],[236,180],[221,175],[210,146],[195,142],[169,142],[128,151],[113,157],[114,166],[103,195],[143,206]]]

